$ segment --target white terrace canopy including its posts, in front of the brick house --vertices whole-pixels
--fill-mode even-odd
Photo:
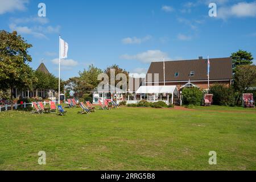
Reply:
[[[154,85],[154,86],[141,86],[136,94],[167,94],[168,102],[169,102],[169,94],[172,95],[171,103],[174,104],[174,96],[179,95],[179,91],[177,90],[177,87],[175,85]]]

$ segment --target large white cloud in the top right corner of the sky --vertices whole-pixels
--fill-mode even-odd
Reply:
[[[240,2],[233,6],[220,7],[217,9],[218,18],[227,19],[230,17],[255,17],[256,16],[256,1]]]

